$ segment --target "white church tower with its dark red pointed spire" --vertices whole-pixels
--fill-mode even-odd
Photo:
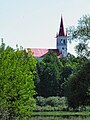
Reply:
[[[60,57],[67,56],[67,34],[64,32],[63,18],[61,16],[59,33],[56,35],[57,49],[59,50]]]

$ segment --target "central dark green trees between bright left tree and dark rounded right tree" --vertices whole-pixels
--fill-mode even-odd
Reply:
[[[58,59],[57,55],[50,51],[43,61],[37,64],[39,81],[36,89],[38,95],[43,97],[64,96],[64,83],[75,71],[77,61],[71,54]]]

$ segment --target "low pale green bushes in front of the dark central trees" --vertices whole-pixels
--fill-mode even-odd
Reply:
[[[44,98],[38,96],[36,98],[35,111],[60,111],[67,109],[67,102],[65,97],[48,97]]]

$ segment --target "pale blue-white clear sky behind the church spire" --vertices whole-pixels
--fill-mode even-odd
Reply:
[[[15,48],[56,48],[61,15],[64,27],[90,14],[90,0],[0,0],[0,38]],[[75,54],[76,43],[68,43]]]

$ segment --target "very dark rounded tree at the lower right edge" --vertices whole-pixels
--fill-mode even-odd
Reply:
[[[65,91],[69,107],[90,105],[90,60],[70,76]]]

